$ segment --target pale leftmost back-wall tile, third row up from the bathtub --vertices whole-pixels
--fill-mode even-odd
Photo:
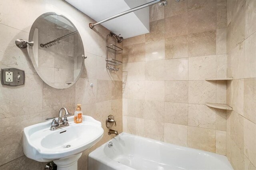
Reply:
[[[124,99],[145,99],[145,81],[126,81],[123,84]]]

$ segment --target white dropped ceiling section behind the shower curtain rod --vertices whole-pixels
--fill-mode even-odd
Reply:
[[[65,0],[90,18],[99,22],[152,0]],[[89,23],[88,23],[89,24]],[[123,38],[149,33],[149,8],[131,12],[102,25]]]

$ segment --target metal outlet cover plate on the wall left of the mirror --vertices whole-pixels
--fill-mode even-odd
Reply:
[[[12,82],[6,81],[6,72],[12,72]],[[1,69],[2,85],[17,86],[25,83],[25,71],[15,68]]]

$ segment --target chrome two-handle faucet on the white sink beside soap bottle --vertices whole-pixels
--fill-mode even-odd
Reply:
[[[62,110],[65,111],[65,115],[64,115],[64,120],[62,120]],[[59,118],[58,118],[58,123],[56,122],[55,120],[55,117],[53,118],[47,118],[45,119],[46,121],[49,120],[49,119],[53,119],[52,120],[52,124],[51,124],[51,127],[50,127],[50,130],[57,130],[59,128],[64,128],[64,127],[68,127],[69,124],[68,124],[68,118],[67,116],[70,116],[71,113],[68,112],[68,110],[65,108],[65,107],[62,107],[60,110],[59,110]]]

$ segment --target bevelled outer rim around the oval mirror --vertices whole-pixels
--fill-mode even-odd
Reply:
[[[62,14],[57,14],[56,12],[46,12],[46,13],[44,13],[44,14],[38,16],[38,18],[36,18],[36,20],[35,20],[34,23],[32,24],[31,29],[30,29],[30,32],[29,32],[29,37],[28,37],[29,42],[33,41],[34,31],[35,31],[35,29],[36,29],[36,26],[35,26],[36,24],[35,24],[35,22],[36,22],[37,20],[39,20],[40,18],[49,16],[49,15],[58,15],[58,16],[61,16],[61,17],[65,18],[66,20],[68,20],[68,22],[70,22],[70,24],[72,24],[72,26],[73,26],[76,30],[78,30],[78,29],[76,28],[76,26],[74,26],[74,24],[73,24],[66,16],[64,16],[64,15],[62,15]],[[77,33],[78,33],[79,36],[80,36],[79,31],[78,31]],[[82,51],[83,51],[83,55],[84,55],[84,43],[83,43],[83,40],[82,40],[82,37],[81,37],[81,36],[80,36],[80,38],[81,38],[81,41],[82,41]],[[39,75],[39,77],[42,79],[42,81],[44,81],[44,83],[46,83],[47,85],[49,85],[50,87],[53,87],[53,88],[55,88],[55,89],[67,89],[67,88],[71,87],[72,85],[74,85],[74,84],[78,81],[78,79],[80,78],[80,76],[81,76],[81,74],[82,74],[82,72],[83,72],[83,69],[84,69],[84,59],[82,59],[82,68],[81,68],[81,70],[80,70],[80,73],[78,74],[78,76],[76,77],[76,79],[73,81],[73,83],[70,83],[70,85],[67,85],[67,86],[64,87],[64,88],[57,88],[57,87],[54,87],[54,86],[52,86],[52,83],[49,83],[48,81],[46,81],[46,80],[43,79],[43,76],[42,76],[42,74],[40,73],[38,67],[36,67],[36,66],[37,66],[37,65],[36,65],[36,60],[35,60],[34,53],[33,53],[33,47],[32,47],[31,45],[28,45],[28,51],[29,51],[29,56],[30,56],[30,59],[31,59],[32,64],[33,64],[33,66],[34,66],[34,69],[36,70],[36,73]],[[82,57],[82,56],[81,56],[81,57]]]

